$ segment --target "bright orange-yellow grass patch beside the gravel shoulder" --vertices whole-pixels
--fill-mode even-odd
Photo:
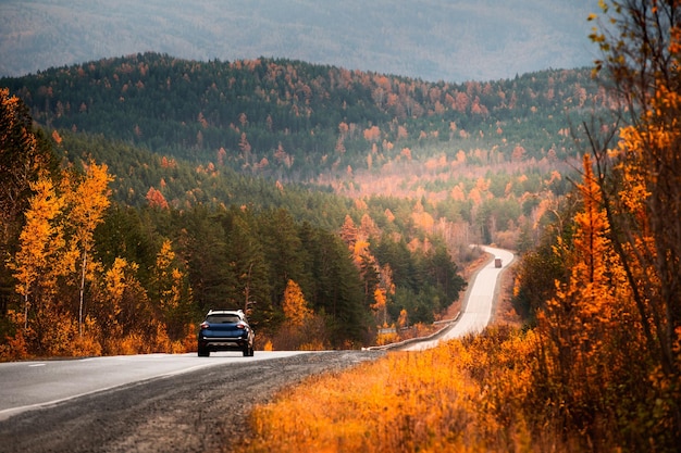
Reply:
[[[242,452],[531,451],[528,337],[506,330],[310,378],[256,407]]]

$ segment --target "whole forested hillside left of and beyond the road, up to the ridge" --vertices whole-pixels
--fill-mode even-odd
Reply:
[[[570,190],[572,125],[609,106],[587,70],[454,85],[158,53],[0,85],[24,137],[3,156],[14,355],[183,350],[225,305],[260,348],[428,324],[470,243],[534,244]]]

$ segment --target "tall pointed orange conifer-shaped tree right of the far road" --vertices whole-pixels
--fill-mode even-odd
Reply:
[[[612,401],[632,398],[630,385],[646,376],[641,363],[630,361],[631,354],[643,353],[641,329],[631,316],[635,306],[609,239],[611,227],[589,154],[583,169],[578,185],[583,207],[573,218],[574,234],[569,241],[558,237],[554,248],[570,275],[556,282],[556,295],[537,314],[532,394],[549,402],[536,405],[544,406],[557,430],[580,432],[597,443],[609,432],[643,426],[624,427],[624,419],[604,414]]]

